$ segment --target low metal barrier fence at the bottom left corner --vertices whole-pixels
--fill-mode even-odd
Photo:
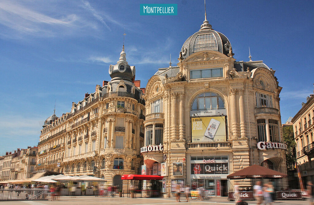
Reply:
[[[0,189],[0,201],[48,200],[44,189]]]

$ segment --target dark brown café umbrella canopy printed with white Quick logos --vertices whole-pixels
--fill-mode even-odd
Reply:
[[[284,177],[287,177],[287,175],[284,173],[253,164],[231,175],[228,175],[227,179],[279,179]]]

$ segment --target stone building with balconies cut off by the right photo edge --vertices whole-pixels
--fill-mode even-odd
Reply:
[[[302,108],[291,120],[295,133],[296,161],[306,187],[307,181],[314,181],[314,95],[302,102]]]

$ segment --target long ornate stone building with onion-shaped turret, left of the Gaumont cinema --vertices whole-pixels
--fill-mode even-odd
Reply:
[[[60,118],[51,115],[41,130],[36,169],[66,175],[94,175],[121,187],[121,175],[137,174],[143,144],[145,102],[126,61],[124,46],[111,81],[72,104]]]

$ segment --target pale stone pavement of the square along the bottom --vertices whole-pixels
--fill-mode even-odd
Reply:
[[[196,201],[193,199],[191,202],[184,202],[185,198],[181,197],[181,203],[176,202],[174,197],[172,198],[127,198],[127,197],[94,197],[94,196],[77,196],[75,198],[71,198],[69,196],[60,197],[60,201],[10,201],[10,202],[0,202],[0,205],[11,205],[11,204],[32,204],[32,205],[45,205],[45,204],[55,204],[55,205],[63,205],[63,204],[106,204],[106,205],[135,205],[135,204],[146,204],[146,205],[163,205],[163,204],[235,204],[235,202],[228,201],[227,197],[213,197],[204,201]],[[256,204],[256,201],[248,201],[248,204]],[[290,201],[290,200],[280,200],[275,201],[273,205],[287,205],[287,204],[310,204],[307,201]]]

